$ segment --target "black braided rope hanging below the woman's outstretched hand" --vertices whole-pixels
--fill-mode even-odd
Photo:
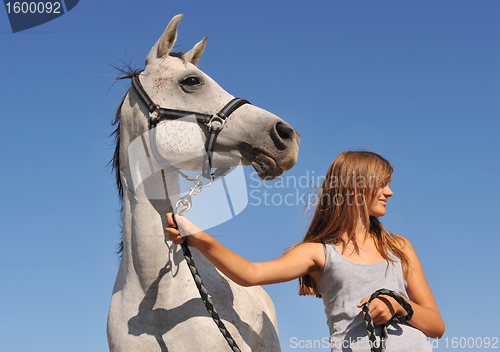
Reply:
[[[178,229],[179,226],[177,225],[177,222],[175,221],[175,217],[173,217],[174,223],[176,228]],[[222,336],[226,339],[229,347],[231,347],[231,350],[233,352],[241,352],[240,348],[236,344],[236,341],[234,341],[233,337],[231,336],[231,333],[226,329],[226,326],[222,322],[219,313],[215,310],[215,306],[212,303],[212,300],[210,299],[210,296],[208,295],[207,289],[205,288],[205,285],[203,285],[203,282],[201,281],[201,276],[200,272],[198,271],[198,268],[194,264],[193,256],[191,254],[191,251],[189,250],[189,246],[187,244],[187,241],[182,242],[181,244],[182,247],[182,252],[184,254],[184,259],[186,259],[186,262],[188,264],[189,270],[191,271],[191,274],[193,275],[194,282],[196,283],[196,287],[198,287],[198,291],[200,292],[201,299],[203,303],[205,304],[205,307],[207,308],[208,313],[212,317],[213,321],[219,328],[219,331],[221,332]]]

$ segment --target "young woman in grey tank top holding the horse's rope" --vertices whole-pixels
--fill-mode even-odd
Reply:
[[[431,351],[426,336],[440,338],[445,326],[420,261],[410,242],[387,232],[378,219],[393,195],[392,172],[390,163],[372,152],[339,155],[319,190],[304,240],[272,261],[251,263],[182,216],[175,219],[189,236],[174,228],[172,214],[166,232],[175,244],[187,240],[240,285],[299,278],[300,295],[323,298],[332,351],[370,351],[361,308],[382,288],[404,297],[413,309],[411,320],[399,323],[391,319],[407,312],[393,297],[381,295],[369,303],[375,325],[389,322],[386,352]]]

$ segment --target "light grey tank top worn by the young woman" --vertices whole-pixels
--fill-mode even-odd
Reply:
[[[386,288],[408,297],[401,261],[358,264],[342,256],[333,243],[324,243],[325,267],[316,287],[325,304],[332,351],[370,352],[364,318],[359,302],[373,292]],[[391,255],[391,253],[389,253]],[[407,323],[390,322],[386,352],[430,352],[426,336]],[[380,336],[380,327],[376,334]]]

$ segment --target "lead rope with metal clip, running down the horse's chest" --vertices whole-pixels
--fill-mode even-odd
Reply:
[[[163,186],[165,187],[165,193],[166,193],[167,192],[167,183],[165,180],[165,173],[163,172],[163,170],[161,170],[161,174],[163,177]],[[198,181],[198,180],[196,179],[196,181]],[[212,181],[210,181],[210,183],[212,183]],[[191,193],[193,193],[193,190],[196,190],[197,188],[198,188],[198,193],[196,193],[196,194],[199,194],[199,192],[201,192],[202,188],[199,186],[199,184],[197,184],[195,182],[195,186],[193,186],[191,188],[191,191],[188,194],[189,198],[184,196],[181,199],[179,199],[177,204],[180,205],[181,207],[176,207],[177,208],[176,209],[177,215],[185,213],[186,211],[188,211],[191,208]],[[168,194],[167,194],[167,197],[168,197]],[[186,202],[189,203],[189,206],[187,206]],[[175,228],[178,229],[179,225],[177,225],[177,221],[175,221],[175,216],[173,217],[173,220],[175,223]],[[198,288],[198,291],[200,292],[201,300],[205,304],[205,308],[207,309],[208,314],[210,314],[210,316],[212,317],[213,321],[215,322],[215,324],[219,328],[219,331],[221,332],[222,336],[224,336],[224,338],[226,339],[231,350],[233,352],[241,352],[240,348],[236,344],[236,341],[234,341],[233,337],[231,336],[231,333],[226,329],[226,326],[222,322],[222,320],[219,316],[219,313],[217,313],[217,311],[215,310],[215,306],[212,303],[210,296],[208,295],[208,291],[205,288],[205,285],[203,285],[203,281],[201,280],[200,272],[198,271],[198,268],[196,267],[196,265],[194,263],[193,255],[191,254],[191,251],[189,250],[189,246],[187,244],[187,241],[182,242],[181,248],[182,248],[182,253],[184,254],[184,259],[186,260],[189,271],[191,271],[191,275],[193,276],[194,282],[196,283],[196,287]]]

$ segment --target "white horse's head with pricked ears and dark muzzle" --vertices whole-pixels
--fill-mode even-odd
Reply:
[[[153,46],[139,79],[158,106],[212,115],[234,97],[197,67],[206,37],[185,54],[172,52],[181,18],[175,16]],[[144,107],[136,106],[135,117],[144,115],[137,109]],[[146,123],[146,119],[140,120]],[[145,129],[144,125],[140,130]],[[156,127],[156,145],[172,164],[201,170],[208,134],[203,124],[162,120]],[[295,165],[299,140],[298,133],[282,119],[246,104],[232,113],[218,135],[213,163],[225,167],[241,160],[252,165],[260,178],[274,179]]]

